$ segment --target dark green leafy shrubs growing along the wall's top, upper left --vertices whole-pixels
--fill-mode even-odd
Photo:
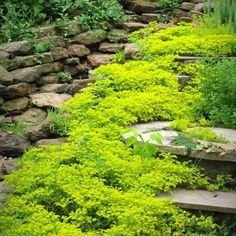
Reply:
[[[32,39],[31,27],[59,19],[76,19],[83,28],[90,29],[98,27],[103,21],[119,22],[123,17],[117,0],[48,0],[33,3],[31,0],[3,0],[1,3],[2,42]]]

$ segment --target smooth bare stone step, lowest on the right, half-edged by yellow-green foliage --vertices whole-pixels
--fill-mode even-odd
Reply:
[[[158,198],[170,198],[184,209],[236,214],[236,192],[209,192],[205,190],[175,190]]]

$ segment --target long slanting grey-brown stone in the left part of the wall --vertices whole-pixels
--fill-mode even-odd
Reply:
[[[10,72],[10,74],[13,78],[14,83],[21,83],[21,82],[34,82],[36,79],[39,79],[42,75],[58,71],[60,71],[60,65],[55,62],[55,63],[47,63],[39,66],[14,70]]]

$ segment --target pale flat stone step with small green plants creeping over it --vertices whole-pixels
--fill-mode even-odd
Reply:
[[[137,137],[138,142],[149,142],[157,146],[159,152],[171,153],[174,155],[187,156],[195,159],[205,159],[210,161],[227,161],[236,163],[236,143],[216,143],[202,140],[196,140],[198,145],[196,148],[187,148],[185,146],[175,146],[172,141],[176,139],[179,132],[170,129],[169,121],[156,121],[144,124],[133,125],[135,132],[141,136]],[[236,130],[212,128],[216,134],[224,137],[228,141],[235,141]],[[151,138],[152,134],[158,133],[162,137],[162,144],[157,143]],[[130,131],[123,136],[127,140],[130,136],[135,136],[135,133]]]

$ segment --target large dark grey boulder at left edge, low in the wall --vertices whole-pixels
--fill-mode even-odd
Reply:
[[[18,157],[30,146],[30,143],[12,132],[0,131],[0,155]]]

